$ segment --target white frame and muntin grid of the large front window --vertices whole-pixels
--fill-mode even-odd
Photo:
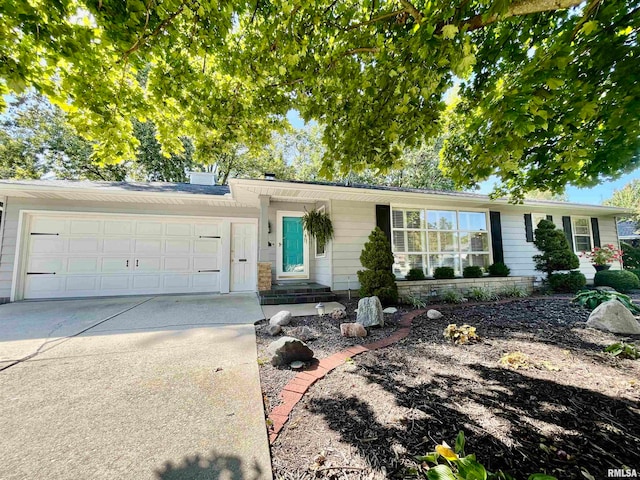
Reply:
[[[416,205],[406,205],[406,204],[398,204],[398,205],[390,205],[390,212],[389,212],[389,222],[390,222],[390,226],[391,226],[391,250],[393,252],[394,257],[397,254],[405,254],[405,255],[423,255],[424,257],[426,257],[427,259],[427,263],[425,265],[424,261],[423,261],[423,265],[425,265],[425,268],[427,269],[427,272],[425,272],[425,274],[428,274],[428,266],[429,266],[429,255],[447,255],[447,254],[451,254],[451,255],[457,255],[457,256],[461,256],[463,253],[470,253],[470,254],[478,254],[478,255],[488,255],[488,261],[489,261],[489,265],[491,265],[493,263],[493,245],[491,243],[491,221],[489,218],[489,210],[488,209],[483,209],[483,208],[451,208],[451,207],[446,207],[446,206],[416,206]],[[395,249],[395,242],[394,242],[394,235],[393,232],[394,231],[422,231],[425,233],[425,248],[428,248],[428,232],[430,231],[425,224],[424,228],[395,228],[393,226],[393,211],[395,210],[421,210],[423,212],[428,212],[428,211],[449,211],[449,212],[455,212],[456,214],[456,229],[455,230],[431,230],[431,231],[438,231],[438,232],[453,232],[456,234],[456,236],[458,237],[458,248],[457,250],[451,251],[451,252],[430,252],[430,251],[425,251],[425,252],[409,252],[408,250],[406,252],[397,252]],[[460,212],[473,212],[473,213],[484,213],[485,215],[485,224],[487,226],[486,229],[486,233],[487,233],[487,247],[488,249],[486,251],[482,251],[482,252],[462,252],[460,250],[460,233],[473,233],[473,232],[484,232],[483,230],[464,230],[460,228]],[[427,221],[427,218],[425,216],[425,222]],[[406,245],[406,247],[408,248],[408,245]],[[460,275],[462,275],[462,262],[460,262],[460,272],[456,272],[459,273]],[[400,277],[398,277],[400,278]]]

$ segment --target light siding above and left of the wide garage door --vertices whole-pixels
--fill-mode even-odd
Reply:
[[[0,299],[9,298],[13,280],[13,267],[16,254],[18,221],[21,210],[69,211],[129,213],[136,215],[180,215],[202,217],[242,217],[257,218],[258,210],[233,207],[185,207],[173,205],[103,203],[70,200],[37,200],[9,197],[5,203],[5,229],[0,255]]]

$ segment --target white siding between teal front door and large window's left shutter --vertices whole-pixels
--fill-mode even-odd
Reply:
[[[333,289],[360,288],[358,270],[360,253],[371,231],[376,227],[376,206],[367,202],[331,202],[331,218],[335,238],[333,248]]]

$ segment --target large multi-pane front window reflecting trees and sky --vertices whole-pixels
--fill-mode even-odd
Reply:
[[[486,212],[393,208],[391,211],[394,273],[410,269],[433,275],[437,267],[464,267],[490,263]]]

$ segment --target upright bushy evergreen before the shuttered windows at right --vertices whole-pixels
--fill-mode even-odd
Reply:
[[[558,270],[573,270],[580,266],[580,260],[571,251],[564,232],[556,229],[549,220],[540,220],[533,243],[541,252],[533,257],[536,270],[547,276]]]

